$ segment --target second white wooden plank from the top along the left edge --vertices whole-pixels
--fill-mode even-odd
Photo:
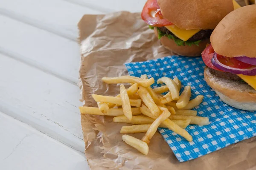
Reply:
[[[0,25],[0,53],[77,84],[80,62],[77,42],[2,15]]]

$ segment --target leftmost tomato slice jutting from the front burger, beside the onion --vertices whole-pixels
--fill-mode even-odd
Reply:
[[[214,65],[212,65],[211,59],[213,57],[213,54],[214,54],[214,49],[212,48],[212,44],[207,45],[207,47],[202,52],[202,59],[204,61],[204,64],[207,65],[207,67],[212,68],[214,70],[222,71],[217,67],[215,67]]]

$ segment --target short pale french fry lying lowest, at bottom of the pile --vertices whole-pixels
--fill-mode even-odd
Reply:
[[[148,154],[148,144],[146,142],[143,142],[142,140],[134,138],[133,136],[129,135],[123,135],[122,140],[131,147],[134,147],[135,149],[139,150],[144,155]]]

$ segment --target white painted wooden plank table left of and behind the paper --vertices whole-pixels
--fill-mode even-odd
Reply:
[[[145,0],[0,0],[0,169],[89,170],[77,23]]]

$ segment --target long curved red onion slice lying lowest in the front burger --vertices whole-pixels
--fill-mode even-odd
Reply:
[[[219,62],[217,59],[216,53],[213,54],[211,61],[215,67],[217,67],[218,69],[221,69],[225,72],[228,72],[228,73],[243,74],[243,75],[247,75],[247,76],[255,76],[256,75],[256,66],[252,67],[252,68],[245,68],[245,69],[233,68],[233,67],[224,65],[221,62]]]

